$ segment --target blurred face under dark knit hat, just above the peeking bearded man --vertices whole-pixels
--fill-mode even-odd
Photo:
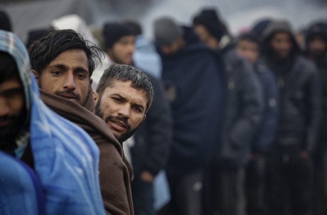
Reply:
[[[123,36],[116,41],[107,53],[115,63],[132,64],[132,54],[134,52],[134,36]]]

